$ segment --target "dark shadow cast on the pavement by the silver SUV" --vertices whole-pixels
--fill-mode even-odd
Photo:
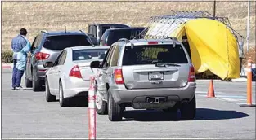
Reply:
[[[180,112],[166,113],[161,111],[132,110],[124,112],[124,121],[178,121]],[[227,120],[249,116],[243,112],[197,108],[194,120]]]

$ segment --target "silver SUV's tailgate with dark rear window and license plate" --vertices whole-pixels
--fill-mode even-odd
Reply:
[[[190,64],[181,45],[126,46],[122,71],[128,89],[180,88]]]

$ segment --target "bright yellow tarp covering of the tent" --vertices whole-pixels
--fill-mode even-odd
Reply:
[[[240,77],[238,45],[225,24],[210,19],[189,20],[169,36],[182,40],[185,34],[196,73],[209,70],[223,80]]]

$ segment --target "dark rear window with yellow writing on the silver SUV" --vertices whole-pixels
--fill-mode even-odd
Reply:
[[[181,45],[126,46],[123,65],[188,63]]]

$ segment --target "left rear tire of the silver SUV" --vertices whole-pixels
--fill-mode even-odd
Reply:
[[[118,103],[115,103],[115,100],[110,92],[110,89],[108,90],[107,106],[108,106],[108,116],[110,121],[122,120],[124,108],[120,107]]]

